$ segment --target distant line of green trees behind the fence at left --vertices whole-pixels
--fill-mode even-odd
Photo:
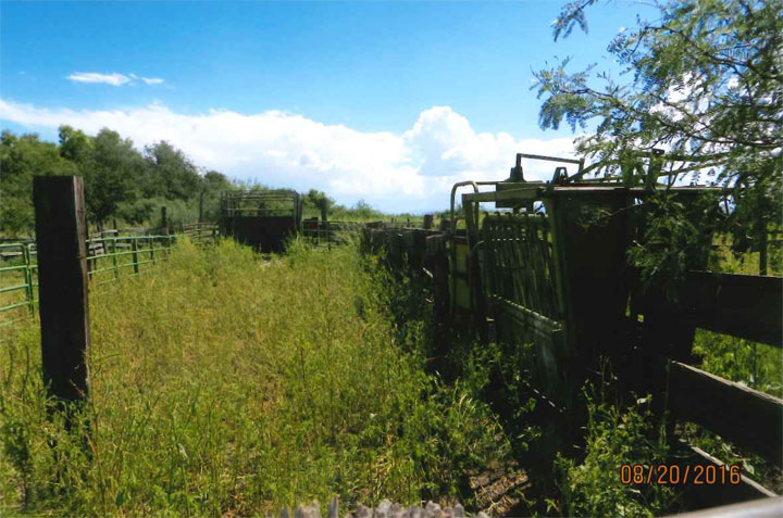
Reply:
[[[95,137],[70,126],[60,127],[59,143],[35,134],[0,137],[0,237],[32,236],[33,176],[80,175],[85,179],[87,216],[98,228],[116,219],[121,225],[160,225],[160,207],[173,225],[220,215],[221,191],[266,189],[258,184],[231,180],[216,170],[204,170],[185,153],[162,140],[138,151],[133,141],[102,129]],[[324,192],[302,194],[304,217],[336,220],[378,220],[410,214],[384,214],[363,201],[352,207],[336,204]],[[417,220],[421,217],[417,217]]]

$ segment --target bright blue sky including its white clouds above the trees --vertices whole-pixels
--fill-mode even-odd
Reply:
[[[568,152],[570,130],[538,128],[532,70],[556,55],[614,70],[606,47],[643,8],[601,4],[588,35],[554,42],[561,7],[3,1],[0,126],[52,140],[59,124],[109,126],[232,177],[435,209],[458,179],[505,176],[515,151]]]

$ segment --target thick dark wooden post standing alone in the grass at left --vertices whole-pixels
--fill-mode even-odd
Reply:
[[[89,304],[84,181],[33,180],[44,384],[60,402],[88,395]]]

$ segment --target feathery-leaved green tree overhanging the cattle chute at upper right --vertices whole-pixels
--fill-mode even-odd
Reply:
[[[566,5],[555,39],[575,26],[586,31],[585,12],[596,1]],[[756,228],[758,240],[783,215],[783,1],[656,5],[657,20],[639,21],[608,47],[623,80],[594,65],[568,72],[569,59],[535,74],[539,124],[557,129],[566,122],[575,130],[595,123],[579,151],[597,160],[596,174],[620,173],[631,184],[641,181],[642,162],[666,149],[670,182],[687,175],[704,181],[704,174],[731,188],[736,210],[726,223]]]

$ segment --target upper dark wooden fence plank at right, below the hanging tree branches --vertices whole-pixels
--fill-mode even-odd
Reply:
[[[783,277],[691,271],[679,316],[697,327],[783,346]]]

